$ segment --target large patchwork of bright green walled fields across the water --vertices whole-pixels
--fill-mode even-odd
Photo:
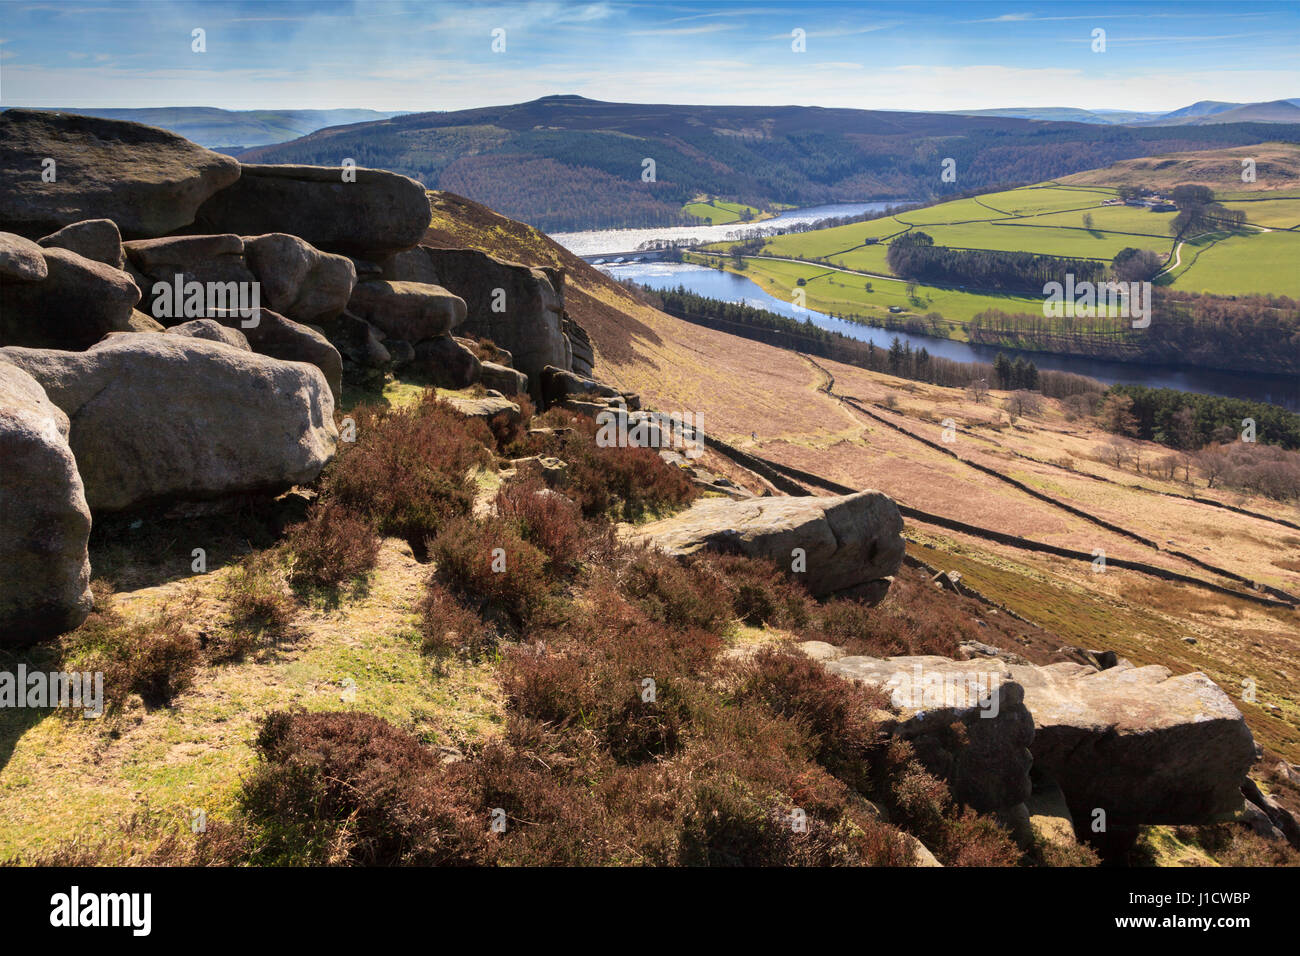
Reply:
[[[1173,213],[1114,203],[1118,186],[1143,182],[1158,187],[1174,185],[1178,174],[1206,178],[1209,169],[1225,169],[1222,152],[1204,151],[1150,160],[1130,160],[1104,170],[1080,173],[1061,181],[1039,183],[980,196],[957,199],[885,219],[854,222],[811,233],[768,239],[755,256],[746,258],[746,274],[771,294],[793,300],[797,280],[805,280],[806,304],[819,311],[875,320],[889,307],[906,316],[940,312],[942,328],[962,338],[961,324],[987,308],[1039,312],[1041,299],[989,295],[978,289],[918,286],[907,297],[901,282],[890,282],[888,246],[900,235],[919,230],[935,245],[967,250],[1034,252],[1109,263],[1123,248],[1157,252],[1167,264],[1162,285],[1193,293],[1244,295],[1273,293],[1300,295],[1300,147],[1269,144],[1260,153],[1275,189],[1249,189],[1258,183],[1232,182],[1222,198],[1247,215],[1248,226],[1232,234],[1201,237],[1175,248]],[[1261,173],[1262,174],[1262,173]],[[1143,179],[1143,176],[1149,176]],[[1171,178],[1173,177],[1173,178]],[[1239,177],[1238,177],[1239,179]],[[1219,182],[1218,185],[1222,185]],[[1244,189],[1238,189],[1245,186]],[[723,252],[731,243],[715,243],[706,251]],[[796,263],[823,264],[811,269]],[[707,261],[707,260],[698,260]],[[711,264],[719,264],[716,259]],[[723,263],[734,271],[733,265]],[[867,273],[859,277],[853,273]],[[871,281],[872,290],[866,289]]]

